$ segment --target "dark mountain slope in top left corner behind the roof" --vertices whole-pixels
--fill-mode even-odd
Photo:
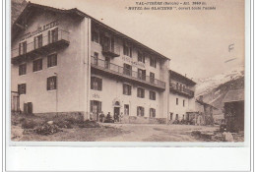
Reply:
[[[19,17],[19,15],[22,13],[22,11],[25,9],[27,4],[28,4],[28,2],[26,0],[12,0],[11,1],[12,25],[14,24],[16,19]]]

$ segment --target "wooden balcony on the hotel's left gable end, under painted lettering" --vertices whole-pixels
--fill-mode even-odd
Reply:
[[[42,36],[40,41],[26,42],[24,47],[16,47],[12,49],[12,64],[36,56],[38,54],[47,54],[52,50],[57,50],[69,45],[69,32],[65,30],[58,30],[57,34],[48,37]]]

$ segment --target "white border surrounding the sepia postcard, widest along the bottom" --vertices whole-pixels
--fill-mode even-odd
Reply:
[[[253,0],[252,0],[253,1]],[[246,0],[246,19],[249,19],[249,0]],[[253,3],[253,2],[252,2]],[[6,2],[7,22],[10,21],[10,1]],[[251,7],[252,8],[252,7]],[[8,24],[7,23],[7,24]],[[246,20],[246,49],[245,52],[253,51],[248,46],[249,21]],[[252,27],[252,26],[251,26]],[[6,26],[6,33],[10,35],[10,28]],[[2,39],[3,40],[3,39]],[[6,40],[6,44],[10,45],[10,40]],[[2,47],[2,46],[1,46]],[[8,47],[8,46],[7,46]],[[10,46],[9,46],[10,47]],[[6,49],[7,57],[10,50]],[[248,57],[248,53],[246,57]],[[253,57],[252,57],[253,58]],[[248,66],[252,67],[253,63],[248,63],[249,58],[245,58],[246,84],[250,77]],[[252,60],[253,62],[253,60]],[[10,86],[10,59],[6,58],[6,87]],[[4,65],[4,64],[2,64]],[[253,77],[253,74],[252,74]],[[253,86],[253,83],[250,83]],[[246,85],[247,89],[248,85]],[[4,88],[4,86],[1,88]],[[10,114],[10,91],[6,90],[6,108]],[[247,89],[248,90],[248,89]],[[250,97],[250,92],[245,91],[246,100]],[[4,93],[4,92],[2,92]],[[252,91],[251,93],[254,93]],[[248,109],[250,104],[246,103],[245,108]],[[4,111],[3,111],[4,112]],[[246,112],[247,113],[247,112]],[[5,120],[5,114],[3,120]],[[252,119],[253,118],[253,114]],[[8,115],[7,115],[8,116]],[[8,119],[8,118],[7,118]],[[249,126],[250,121],[245,122]],[[251,124],[253,121],[251,121]],[[6,160],[8,171],[21,170],[175,170],[175,171],[249,171],[250,168],[250,147],[246,144],[244,147],[202,147],[205,143],[200,143],[201,147],[71,147],[71,146],[10,146],[10,120],[7,120],[6,127]],[[245,140],[249,138],[245,129]],[[253,131],[251,135],[253,135]],[[253,143],[251,140],[249,143]],[[36,143],[35,143],[36,144]],[[35,145],[34,144],[34,145]],[[44,143],[40,143],[44,144]],[[46,143],[47,144],[47,143]],[[60,143],[62,144],[62,143]],[[73,143],[68,143],[73,145]],[[79,145],[79,143],[76,143]],[[129,143],[128,143],[129,144]],[[147,143],[146,143],[147,144]],[[189,146],[193,146],[189,143]],[[208,143],[206,143],[207,145]],[[219,143],[215,143],[219,144]],[[222,143],[221,143],[222,144]],[[16,144],[18,145],[18,144]],[[27,144],[28,145],[28,144]],[[64,145],[64,144],[63,144]],[[96,145],[96,143],[94,143]],[[136,143],[138,145],[138,143]],[[148,145],[150,146],[150,145]],[[152,145],[151,145],[152,146]],[[159,145],[158,145],[159,146]],[[182,143],[177,143],[182,146]],[[196,145],[194,145],[196,146]],[[207,145],[209,146],[209,144]],[[224,146],[224,145],[221,145]],[[236,146],[236,145],[235,145]],[[252,149],[253,150],[253,147]],[[5,162],[5,161],[4,161]],[[251,158],[253,162],[253,158]],[[4,165],[4,164],[3,164]],[[252,166],[253,167],[253,166]],[[3,168],[4,170],[4,168]]]

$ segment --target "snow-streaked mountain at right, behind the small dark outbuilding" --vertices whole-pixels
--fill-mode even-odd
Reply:
[[[228,90],[244,88],[244,67],[233,69],[212,78],[198,80],[196,97],[203,95],[205,102],[223,109],[223,99]],[[217,113],[221,113],[221,111]]]

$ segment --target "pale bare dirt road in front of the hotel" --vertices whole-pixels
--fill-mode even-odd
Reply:
[[[98,139],[101,142],[198,142],[191,136],[194,130],[212,132],[216,127],[188,125],[103,124],[120,128],[124,134]]]

